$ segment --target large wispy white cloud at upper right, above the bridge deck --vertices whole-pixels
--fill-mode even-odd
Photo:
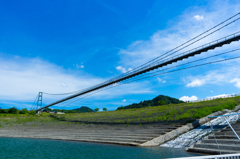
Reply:
[[[224,5],[224,7],[219,5],[217,1],[212,1],[206,6],[193,6],[186,9],[184,14],[176,17],[174,22],[170,22],[171,25],[169,25],[167,29],[158,30],[153,33],[148,40],[138,39],[132,42],[127,48],[120,49],[120,64],[125,67],[135,68],[139,66],[139,64],[163,55],[167,51],[239,12],[240,4],[230,3],[228,1],[222,1],[221,4]],[[203,15],[208,15],[208,18],[204,19]],[[198,20],[204,20],[202,20],[201,23],[197,23],[193,17]],[[231,34],[234,30],[234,25],[228,26],[181,52]]]

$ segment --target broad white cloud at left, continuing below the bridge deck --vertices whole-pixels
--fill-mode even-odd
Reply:
[[[19,58],[11,60],[0,58],[0,75],[1,103],[31,103],[38,92],[52,94],[73,92],[107,80],[86,75],[84,72],[65,70],[62,67],[37,58]],[[117,85],[117,83],[114,84],[114,86]],[[139,83],[121,85],[94,94],[89,98],[102,100],[123,96],[125,94],[152,93],[151,88],[148,86],[148,82],[141,82],[141,87],[139,85]],[[45,104],[48,104],[63,97],[64,96],[50,96],[44,94],[43,101]]]

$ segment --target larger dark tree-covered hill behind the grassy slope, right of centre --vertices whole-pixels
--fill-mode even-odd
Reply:
[[[140,103],[133,103],[130,105],[127,105],[125,107],[121,106],[118,107],[117,110],[120,109],[132,109],[132,108],[142,108],[142,107],[148,107],[148,106],[159,106],[159,105],[167,105],[167,104],[178,104],[178,103],[184,103],[181,100],[178,100],[176,98],[172,98],[169,96],[159,95],[152,100],[146,100],[141,101]]]

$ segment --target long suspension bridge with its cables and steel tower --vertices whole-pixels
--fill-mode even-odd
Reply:
[[[199,60],[186,62],[183,64],[179,64],[177,66],[171,66],[171,67],[163,69],[163,67],[171,65],[173,63],[177,63],[177,62],[187,59],[189,57],[194,57],[195,55],[202,54],[204,52],[208,52],[209,50],[213,50],[218,47],[222,47],[224,45],[230,44],[232,42],[239,41],[240,40],[240,31],[237,31],[235,33],[229,34],[229,35],[219,38],[217,40],[206,43],[204,45],[195,47],[193,49],[189,49],[187,51],[183,51],[183,50],[188,49],[190,46],[197,44],[197,42],[199,42],[200,40],[203,40],[203,39],[211,36],[212,34],[222,30],[223,28],[226,28],[227,26],[232,25],[239,19],[240,19],[240,12],[233,15],[232,17],[226,19],[225,21],[222,21],[221,23],[215,25],[214,27],[208,29],[207,31],[199,34],[198,36],[188,40],[187,42],[175,47],[174,49],[172,49],[164,54],[161,54],[160,56],[148,61],[147,63],[144,63],[124,74],[116,76],[116,77],[114,77],[110,80],[107,80],[103,83],[100,83],[98,85],[94,85],[90,88],[80,90],[80,91],[70,92],[70,93],[50,94],[50,95],[69,95],[69,94],[71,94],[71,95],[67,96],[63,99],[57,100],[53,103],[50,103],[46,106],[42,106],[42,96],[43,96],[43,94],[49,94],[49,93],[39,92],[38,96],[36,97],[36,99],[33,103],[32,108],[34,110],[36,110],[36,112],[38,112],[38,111],[41,111],[42,109],[45,109],[45,108],[48,108],[48,107],[51,107],[51,106],[54,106],[54,105],[57,105],[57,104],[60,104],[65,101],[75,99],[76,97],[78,97],[78,99],[73,101],[73,102],[76,102],[77,100],[80,100],[81,98],[84,98],[86,96],[92,95],[94,93],[98,93],[105,89],[120,86],[122,84],[131,83],[134,81],[138,81],[138,80],[145,79],[145,78],[150,78],[153,76],[159,76],[159,75],[163,75],[163,74],[167,74],[167,73],[171,73],[171,72],[176,72],[176,71],[180,71],[183,69],[189,69],[189,68],[193,68],[193,67],[199,67],[199,66],[204,66],[204,65],[208,65],[208,64],[213,64],[213,63],[218,63],[218,62],[223,62],[223,61],[227,61],[227,60],[233,60],[233,59],[240,58],[240,56],[232,57],[232,58],[225,58],[225,59],[221,59],[221,60],[211,61],[211,62],[207,62],[207,63],[202,63],[202,64],[182,68],[182,66],[188,65],[190,63],[196,63],[197,61],[203,61],[205,59],[210,59],[210,58],[214,58],[214,57],[217,57],[217,56],[220,56],[223,54],[228,54],[228,53],[232,53],[235,51],[239,51],[240,48],[238,48],[238,49],[233,49],[233,50],[230,50],[227,52],[218,53],[216,55],[202,58]],[[180,51],[182,51],[182,52],[180,52]],[[181,67],[181,68],[179,68],[179,67]],[[172,70],[173,68],[177,68],[177,69]],[[71,102],[71,103],[73,103],[73,102]]]

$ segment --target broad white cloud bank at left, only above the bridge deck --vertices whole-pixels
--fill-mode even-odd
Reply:
[[[0,99],[5,100],[31,101],[40,91],[72,92],[103,81],[97,77],[69,74],[61,67],[36,58],[0,59],[0,74]]]

